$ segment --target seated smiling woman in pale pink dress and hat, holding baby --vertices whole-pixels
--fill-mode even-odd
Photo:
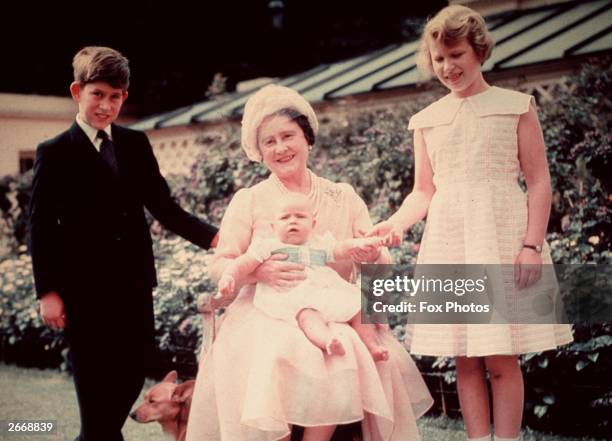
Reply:
[[[307,168],[318,122],[297,92],[269,85],[251,96],[242,120],[247,156],[263,161],[270,177],[239,190],[221,224],[211,274],[254,240],[273,235],[277,201],[301,193],[316,213],[314,233],[336,240],[372,227],[363,200],[347,184],[320,178]],[[253,303],[255,284],[291,288],[306,278],[304,265],[273,255],[257,266],[225,312],[211,350],[201,360],[192,399],[187,441],[288,440],[292,425],[306,427],[303,440],[329,440],[338,424],[361,421],[372,441],[418,440],[415,420],[432,399],[414,362],[388,329],[378,328],[388,360],[375,363],[358,334],[345,323],[329,323],[344,349],[328,355],[295,324],[266,314]],[[357,253],[362,262],[390,262],[386,250]],[[354,280],[350,261],[330,264]]]

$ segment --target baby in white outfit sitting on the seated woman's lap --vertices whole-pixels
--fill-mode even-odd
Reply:
[[[271,317],[297,323],[304,335],[329,355],[344,355],[344,346],[328,323],[350,323],[375,361],[388,358],[387,349],[378,342],[373,325],[361,323],[359,288],[344,280],[327,266],[350,260],[359,251],[378,248],[383,239],[353,238],[335,241],[331,234],[313,233],[316,219],[308,198],[291,194],[278,206],[272,222],[276,238],[254,240],[248,250],[234,259],[219,280],[223,297],[234,295],[236,285],[272,254],[287,254],[287,260],[306,266],[306,280],[287,290],[258,283],[254,304]]]

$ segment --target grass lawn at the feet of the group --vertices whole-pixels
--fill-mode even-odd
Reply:
[[[145,390],[151,386],[145,384]],[[138,403],[142,400],[141,397]],[[0,363],[0,421],[56,420],[55,435],[13,435],[0,439],[15,441],[73,441],[79,430],[76,395],[71,378],[58,371],[24,369]],[[464,441],[460,421],[447,418],[421,418],[423,441]],[[588,441],[527,431],[524,441]],[[165,441],[157,423],[138,424],[128,418],[123,428],[126,441]],[[202,440],[206,441],[206,440]]]

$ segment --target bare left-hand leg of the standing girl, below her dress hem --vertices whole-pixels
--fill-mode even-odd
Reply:
[[[468,438],[490,436],[491,416],[481,357],[457,357],[457,393]]]

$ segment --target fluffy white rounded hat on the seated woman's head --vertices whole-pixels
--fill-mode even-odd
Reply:
[[[293,109],[304,115],[313,133],[317,134],[319,122],[310,103],[293,89],[268,84],[251,95],[242,115],[242,148],[251,161],[261,162],[262,159],[257,147],[257,129],[267,116],[281,109]]]

